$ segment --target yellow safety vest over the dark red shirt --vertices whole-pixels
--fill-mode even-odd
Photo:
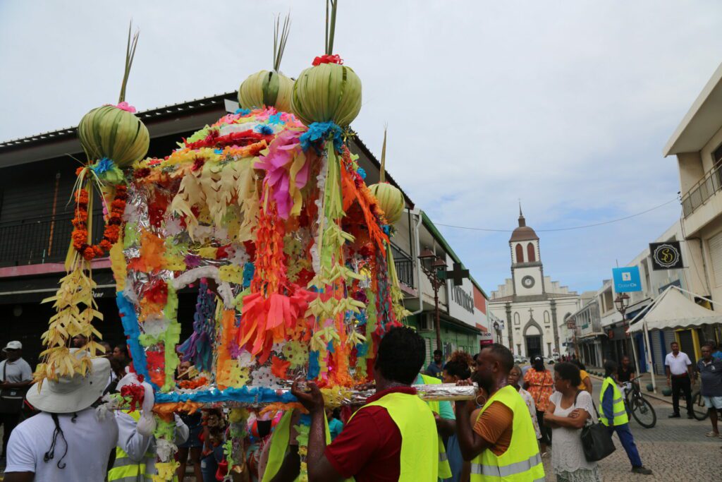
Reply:
[[[359,410],[372,406],[386,408],[391,420],[401,432],[399,482],[436,482],[438,436],[435,436],[436,422],[429,405],[418,395],[392,392],[375,402],[367,403]]]

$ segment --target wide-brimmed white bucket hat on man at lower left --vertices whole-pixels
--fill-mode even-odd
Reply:
[[[79,355],[78,348],[70,353]],[[85,376],[60,376],[57,381],[45,380],[38,392],[38,384],[27,391],[27,401],[48,413],[74,413],[90,407],[105,391],[110,376],[110,361],[107,358],[92,358],[92,368]]]

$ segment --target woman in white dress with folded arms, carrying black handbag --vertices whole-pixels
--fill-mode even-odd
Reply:
[[[544,423],[552,427],[552,468],[557,482],[601,482],[596,462],[587,462],[581,441],[581,429],[596,422],[591,395],[579,390],[579,368],[572,363],[554,365],[554,389],[544,413]]]

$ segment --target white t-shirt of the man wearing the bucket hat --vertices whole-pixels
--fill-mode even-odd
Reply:
[[[110,451],[118,441],[116,418],[110,413],[100,421],[95,408],[86,408],[77,413],[58,415],[63,436],[58,434],[55,455],[48,462],[43,461],[53,443],[55,423],[50,413],[41,412],[20,423],[10,435],[7,447],[9,472],[33,472],[34,482],[87,481],[103,482],[108,469]],[[61,462],[64,452],[67,455]],[[58,462],[61,467],[58,468]]]

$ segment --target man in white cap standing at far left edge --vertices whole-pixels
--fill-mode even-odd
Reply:
[[[14,403],[14,400],[13,403],[4,403],[4,409],[0,410],[0,424],[3,426],[0,459],[4,460],[7,453],[7,441],[17,426],[20,410],[22,410],[22,400],[27,392],[27,387],[30,387],[30,383],[32,383],[32,369],[27,361],[21,358],[22,343],[19,341],[9,342],[2,350],[6,358],[0,361],[0,390],[3,390],[2,395],[9,397],[9,400],[17,400],[17,403]],[[17,405],[17,408],[10,408],[11,405]]]

